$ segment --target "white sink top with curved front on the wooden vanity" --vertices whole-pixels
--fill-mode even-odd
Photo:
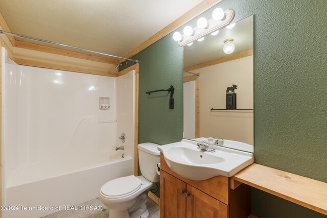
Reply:
[[[191,180],[206,180],[215,176],[231,177],[253,163],[253,154],[215,146],[216,152],[197,149],[196,141],[159,146],[168,166],[178,175]],[[240,142],[241,143],[241,142]]]

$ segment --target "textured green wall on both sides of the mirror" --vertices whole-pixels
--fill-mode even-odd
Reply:
[[[223,0],[238,21],[254,14],[255,162],[327,182],[327,2]],[[194,21],[191,23],[194,23]],[[182,49],[168,35],[133,58],[139,64],[139,142],[182,137]],[[149,99],[152,89],[176,87]],[[254,189],[260,217],[326,217]]]

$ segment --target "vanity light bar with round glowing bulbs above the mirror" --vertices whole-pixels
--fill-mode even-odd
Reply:
[[[192,28],[186,26],[183,29],[183,35],[179,32],[173,34],[173,39],[177,41],[179,46],[189,45],[195,40],[203,38],[208,34],[217,35],[218,30],[229,25],[234,19],[235,12],[233,10],[223,11],[221,8],[216,8],[213,12],[213,18],[206,20],[204,17],[199,18],[197,27]],[[203,39],[202,39],[203,40]]]

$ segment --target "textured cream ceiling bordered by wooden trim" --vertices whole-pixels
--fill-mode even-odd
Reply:
[[[0,12],[13,33],[124,56],[200,2],[1,0]]]

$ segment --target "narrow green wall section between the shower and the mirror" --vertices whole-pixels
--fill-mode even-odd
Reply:
[[[183,136],[183,49],[171,39],[172,34],[132,57],[139,60],[139,143],[162,145],[180,141]],[[168,89],[171,85],[175,88],[174,109],[169,109],[167,91],[145,93]],[[139,169],[138,172],[141,174]],[[157,196],[159,193],[159,190],[155,192]]]

